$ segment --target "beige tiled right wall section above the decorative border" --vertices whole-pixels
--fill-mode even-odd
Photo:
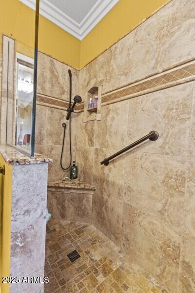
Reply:
[[[193,0],[185,0],[182,6],[171,1],[85,66],[79,73],[79,91],[84,93],[101,79],[103,92],[109,91],[193,58],[194,8]],[[184,49],[178,50],[181,44]]]

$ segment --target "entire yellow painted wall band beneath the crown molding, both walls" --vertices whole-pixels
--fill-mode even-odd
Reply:
[[[80,69],[167,2],[168,0],[119,0],[81,42],[40,16],[39,51]],[[31,57],[34,26],[35,11],[19,0],[0,0],[0,33],[15,39],[17,51]]]

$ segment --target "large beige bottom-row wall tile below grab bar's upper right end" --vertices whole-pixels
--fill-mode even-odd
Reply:
[[[174,291],[179,274],[180,240],[159,219],[124,204],[122,248],[137,263]]]

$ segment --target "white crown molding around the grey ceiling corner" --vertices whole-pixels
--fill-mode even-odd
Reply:
[[[81,41],[118,1],[119,0],[98,0],[80,23],[74,21],[68,15],[60,11],[48,0],[40,0],[39,12],[42,16],[54,22]],[[20,0],[20,2],[35,10],[36,0]]]

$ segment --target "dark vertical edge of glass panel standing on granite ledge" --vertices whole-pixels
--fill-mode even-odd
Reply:
[[[33,78],[33,109],[32,109],[32,133],[31,133],[31,158],[35,157],[35,123],[36,123],[36,101],[37,101],[38,37],[39,37],[39,0],[36,0],[36,11],[35,11],[35,54],[34,54],[34,78]]]

